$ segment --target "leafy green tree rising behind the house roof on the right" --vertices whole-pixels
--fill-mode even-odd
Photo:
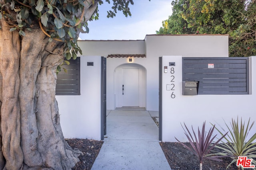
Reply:
[[[175,0],[158,34],[229,34],[230,57],[256,55],[255,0]]]

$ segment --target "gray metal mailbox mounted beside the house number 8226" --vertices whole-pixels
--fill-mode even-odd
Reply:
[[[182,81],[182,95],[197,95],[199,82]]]

